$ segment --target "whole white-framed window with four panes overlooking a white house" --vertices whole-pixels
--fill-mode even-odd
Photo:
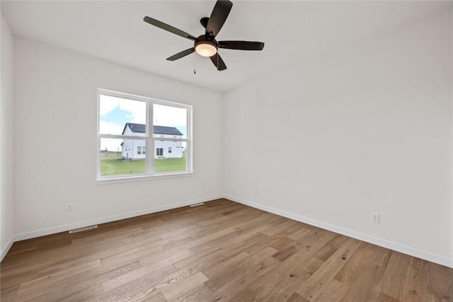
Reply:
[[[98,89],[97,178],[191,173],[191,115],[190,105]]]

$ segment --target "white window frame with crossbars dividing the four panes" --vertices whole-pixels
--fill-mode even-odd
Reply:
[[[141,101],[146,103],[147,108],[147,116],[146,116],[146,129],[147,132],[144,137],[137,137],[137,136],[127,136],[122,134],[101,134],[100,133],[100,122],[101,117],[100,113],[100,104],[101,104],[101,95],[108,95],[113,96],[116,98],[125,98],[127,100],[134,100],[134,101]],[[153,127],[154,127],[154,115],[153,109],[154,104],[157,105],[164,105],[170,106],[175,108],[183,108],[186,110],[186,123],[187,123],[187,134],[185,138],[173,138],[173,139],[166,139],[171,141],[182,141],[185,142],[186,145],[186,164],[185,170],[181,171],[169,171],[169,172],[155,172],[154,171],[154,152],[143,152],[142,155],[145,156],[145,173],[141,174],[134,174],[134,175],[107,175],[101,176],[101,139],[144,139],[145,146],[144,150],[154,150],[154,141],[160,140],[160,137],[153,136]],[[97,90],[97,132],[96,132],[96,183],[111,183],[111,182],[129,182],[135,180],[147,180],[147,179],[158,179],[158,178],[171,178],[171,177],[180,177],[180,176],[188,176],[193,175],[193,154],[192,154],[192,146],[193,146],[193,136],[192,136],[192,116],[193,116],[193,106],[182,104],[182,103],[174,103],[167,100],[158,100],[156,98],[149,98],[141,95],[133,95],[130,93],[122,93],[117,91],[110,91],[103,88],[98,88]]]

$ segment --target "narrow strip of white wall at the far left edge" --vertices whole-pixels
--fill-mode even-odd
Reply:
[[[13,35],[1,15],[0,260],[13,237]]]

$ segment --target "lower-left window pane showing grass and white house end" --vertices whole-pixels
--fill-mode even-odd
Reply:
[[[144,139],[101,139],[101,176],[145,173],[146,155],[137,152],[145,144]]]

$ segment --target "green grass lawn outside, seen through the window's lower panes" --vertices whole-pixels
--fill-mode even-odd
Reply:
[[[146,161],[124,161],[116,153],[101,154],[101,176],[142,174],[146,171]],[[154,159],[155,172],[185,171],[185,153],[183,158]]]

